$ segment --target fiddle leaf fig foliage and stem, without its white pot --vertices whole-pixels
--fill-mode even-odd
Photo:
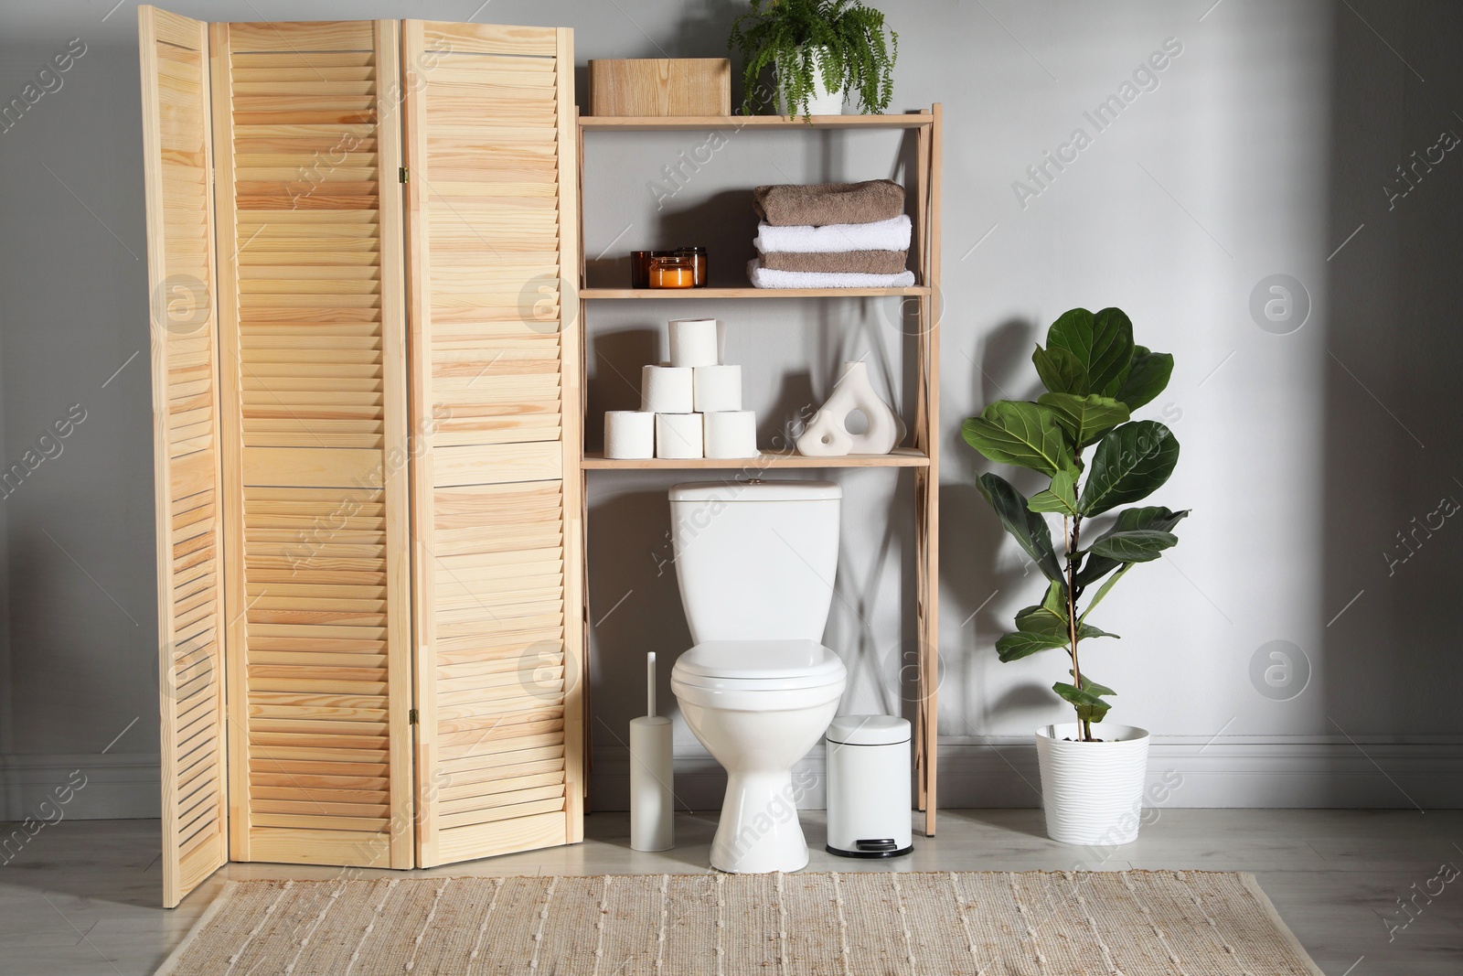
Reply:
[[[990,461],[1028,468],[1049,486],[1026,498],[998,474],[976,483],[1002,528],[1046,577],[1042,603],[1015,615],[1015,631],[996,641],[1002,661],[1064,648],[1069,682],[1052,691],[1077,711],[1083,742],[1093,742],[1116,695],[1081,669],[1078,647],[1097,629],[1088,615],[1135,563],[1151,562],[1178,544],[1173,528],[1188,511],[1141,502],[1169,480],[1179,459],[1173,432],[1156,420],[1132,420],[1169,383],[1173,357],[1132,341],[1121,309],[1072,309],[1031,354],[1046,392],[1036,401],[998,399],[961,427],[966,443]],[[1087,457],[1091,449],[1090,458]],[[1049,515],[1062,519],[1061,547]],[[1107,517],[1103,522],[1090,522]],[[1096,587],[1096,590],[1094,590]],[[1090,594],[1090,596],[1088,596]]]

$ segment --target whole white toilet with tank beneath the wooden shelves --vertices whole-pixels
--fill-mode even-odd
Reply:
[[[838,568],[830,481],[695,483],[670,489],[680,603],[696,642],[670,688],[680,714],[727,771],[711,866],[797,871],[793,764],[822,737],[847,672],[821,644]]]

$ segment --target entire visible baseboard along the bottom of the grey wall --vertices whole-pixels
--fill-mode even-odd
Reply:
[[[42,800],[73,771],[86,777],[64,815],[73,819],[151,818],[161,811],[157,754],[0,755],[0,819],[38,817]],[[811,774],[802,806],[824,806],[824,754],[799,765]],[[1151,796],[1162,806],[1309,806],[1368,809],[1463,808],[1463,739],[1328,739],[1226,736],[1154,739]],[[597,746],[591,806],[629,808],[629,751]],[[676,797],[686,809],[721,806],[726,774],[698,746],[676,751]],[[939,746],[939,805],[1040,806],[1040,773],[1030,739],[958,739]]]

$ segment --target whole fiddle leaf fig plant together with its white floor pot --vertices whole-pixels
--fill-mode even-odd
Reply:
[[[1125,844],[1137,838],[1148,733],[1100,726],[1116,695],[1083,666],[1083,641],[1116,638],[1088,616],[1140,562],[1178,543],[1186,511],[1124,508],[1151,495],[1173,473],[1179,442],[1156,420],[1132,411],[1167,386],[1173,357],[1132,341],[1121,309],[1072,309],[1056,319],[1046,348],[1031,354],[1046,392],[1034,402],[998,399],[966,420],[966,442],[990,461],[1043,476],[1048,487],[1023,496],[998,474],[979,477],[1001,525],[1046,577],[1046,594],[1015,616],[996,641],[1002,661],[1061,648],[1069,680],[1052,685],[1075,721],[1036,732],[1046,833],[1072,844]],[[1090,459],[1086,457],[1091,449]],[[1048,517],[1061,517],[1061,547]],[[1093,521],[1102,519],[1102,521]],[[1099,735],[1100,733],[1100,735]]]

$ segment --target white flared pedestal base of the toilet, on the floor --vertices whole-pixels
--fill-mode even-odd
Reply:
[[[797,787],[784,773],[730,773],[721,821],[711,841],[711,866],[730,874],[790,874],[808,866],[808,840],[797,822]]]

